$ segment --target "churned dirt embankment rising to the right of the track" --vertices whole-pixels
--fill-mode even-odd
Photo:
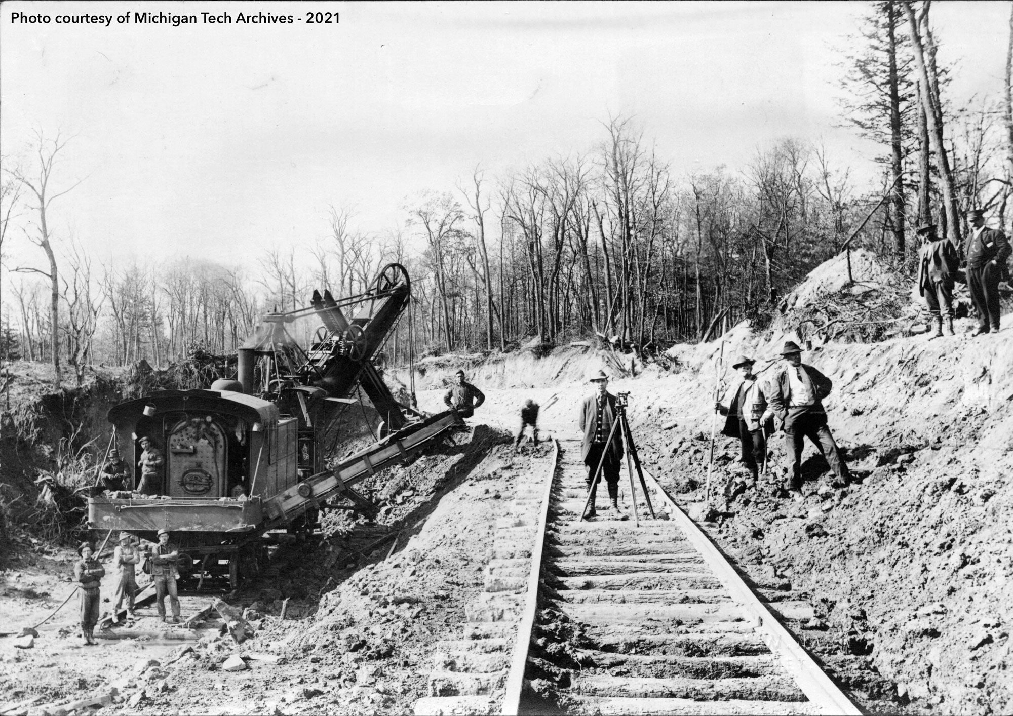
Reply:
[[[745,326],[731,337],[726,355],[772,357],[780,345]],[[718,349],[716,341],[674,349],[686,369],[632,402],[641,454],[685,499],[699,496],[706,479]],[[834,381],[831,429],[867,477],[832,488],[826,461],[807,445],[803,499],[773,499],[761,485],[734,495],[719,519],[718,539],[756,581],[787,579],[823,600],[829,629],[821,654],[867,658],[886,683],[871,684],[866,672],[855,686],[890,699],[877,708],[1013,707],[1005,677],[1013,604],[1010,354],[1008,327],[973,340],[916,336],[803,353]],[[651,407],[659,394],[678,401]],[[671,430],[659,428],[673,419]],[[773,473],[783,479],[781,434],[772,446]],[[737,451],[737,442],[718,434],[714,481],[732,494],[725,468]]]

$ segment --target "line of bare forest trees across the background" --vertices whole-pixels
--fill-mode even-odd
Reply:
[[[392,231],[357,227],[335,204],[326,240],[271,249],[254,267],[118,264],[54,241],[53,187],[73,190],[58,176],[67,140],[40,134],[31,159],[5,169],[0,219],[4,237],[20,222],[47,268],[9,266],[0,357],[56,357],[80,377],[87,364],[229,352],[265,311],[306,306],[314,289],[360,293],[388,262],[412,280],[412,308],[387,348],[398,362],[532,336],[597,333],[642,352],[705,340],[723,320],[764,324],[846,248],[911,275],[920,224],[959,243],[962,212],[976,206],[1008,229],[1013,180],[1013,10],[1003,91],[954,105],[929,9],[871,3],[844,41],[841,122],[882,148],[871,184],[807,138],[758,148],[744,166],[687,174],[658,155],[649,128],[619,115],[603,118],[595,146],[501,176],[476,167],[456,186],[407,197],[392,208]]]

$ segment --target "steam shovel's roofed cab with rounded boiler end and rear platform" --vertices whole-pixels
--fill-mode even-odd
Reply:
[[[108,418],[135,469],[143,436],[162,453],[164,464],[155,478],[157,495],[91,498],[89,527],[127,530],[150,541],[158,530],[169,530],[181,551],[199,562],[190,569],[188,560],[180,565],[181,578],[192,573],[200,582],[181,583],[184,588],[204,587],[205,575],[235,588],[240,568],[255,573],[265,559],[259,543],[264,500],[294,486],[301,472],[320,467],[309,450],[304,452],[310,463],[299,464],[297,418],[282,417],[274,403],[239,392],[160,391],[116,405]],[[305,512],[292,516],[297,528],[307,526],[307,516],[315,520]]]

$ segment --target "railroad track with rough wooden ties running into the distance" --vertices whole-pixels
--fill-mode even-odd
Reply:
[[[580,522],[585,468],[564,448],[519,486],[416,714],[862,713],[649,472],[656,519],[639,495],[639,524]]]

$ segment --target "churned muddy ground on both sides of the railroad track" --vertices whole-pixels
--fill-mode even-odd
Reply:
[[[767,359],[782,340],[738,327],[724,349]],[[672,370],[629,356],[617,363],[586,346],[541,357],[519,351],[423,362],[415,378],[422,409],[441,409],[443,385],[461,365],[485,390],[474,435],[461,433],[445,454],[384,473],[373,485],[386,502],[376,524],[353,529],[332,514],[326,540],[280,551],[274,571],[232,600],[254,612],[252,641],[237,646],[215,631],[192,634],[200,637],[192,652],[168,670],[149,668],[132,687],[123,675],[139,660],[165,660],[178,647],[156,636],[103,640],[85,651],[68,605],[33,649],[15,650],[0,638],[0,704],[69,701],[116,683],[122,701],[103,712],[410,713],[426,695],[432,644],[460,638],[464,606],[481,590],[503,497],[541,459],[510,449],[523,401],[548,404],[555,395],[543,432],[571,435],[586,375],[604,368],[616,376],[613,391],[631,392],[644,463],[690,504],[702,498],[719,349],[718,341],[677,346]],[[783,476],[777,435],[771,482],[744,491],[729,471],[737,446],[717,441],[714,481],[728,489],[712,505],[712,537],[758,586],[790,585],[808,595],[825,628],[800,637],[874,712],[1011,708],[1011,354],[1009,328],[973,340],[920,336],[806,352],[803,360],[835,382],[830,425],[860,470],[845,488],[830,486],[825,461],[807,446],[804,496],[771,496]],[[22,545],[19,554],[24,561],[0,575],[0,621],[17,627],[62,601],[71,564],[69,552],[46,545]],[[152,610],[145,614],[150,620]],[[221,669],[229,655],[250,652],[285,662]]]

